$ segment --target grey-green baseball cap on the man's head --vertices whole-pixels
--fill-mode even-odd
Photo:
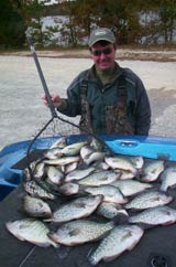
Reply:
[[[102,40],[110,43],[116,43],[114,34],[110,29],[98,28],[90,33],[88,45],[92,46],[95,43]]]

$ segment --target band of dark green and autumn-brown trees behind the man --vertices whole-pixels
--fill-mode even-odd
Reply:
[[[61,43],[78,46],[95,26],[111,28],[119,45],[176,43],[176,0],[75,0],[46,6],[50,0],[1,0],[0,49],[22,49],[31,29],[41,47]],[[65,15],[61,25],[43,30],[43,18]]]

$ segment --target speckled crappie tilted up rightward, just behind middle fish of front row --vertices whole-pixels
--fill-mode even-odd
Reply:
[[[81,196],[67,204],[63,204],[54,213],[52,218],[45,222],[64,223],[72,220],[89,216],[101,203],[102,195]]]

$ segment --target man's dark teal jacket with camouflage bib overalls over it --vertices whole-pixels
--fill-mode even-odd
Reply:
[[[81,132],[148,135],[151,107],[142,81],[116,64],[114,78],[102,86],[95,65],[81,72],[67,89],[58,111],[80,115]]]

